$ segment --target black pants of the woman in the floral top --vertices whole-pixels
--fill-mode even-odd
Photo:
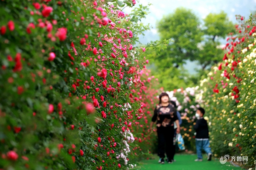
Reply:
[[[167,158],[172,159],[174,127],[157,127],[158,136],[158,156],[164,158],[166,153]]]

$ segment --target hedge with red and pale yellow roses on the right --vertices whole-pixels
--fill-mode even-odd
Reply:
[[[242,164],[248,162],[245,166],[255,167],[256,27],[248,25],[243,17],[238,19],[236,34],[227,38],[223,61],[211,69],[201,86],[212,124],[210,138],[215,156],[247,156],[248,161]]]

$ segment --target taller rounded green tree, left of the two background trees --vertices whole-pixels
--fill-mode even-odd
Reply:
[[[156,59],[172,58],[175,67],[188,59],[195,60],[203,35],[199,26],[199,18],[190,9],[177,8],[174,13],[164,16],[157,23],[160,39],[172,39],[173,43]]]

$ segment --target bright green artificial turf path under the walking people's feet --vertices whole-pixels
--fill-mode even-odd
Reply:
[[[230,162],[221,164],[219,159],[212,158],[212,161],[207,161],[205,155],[203,161],[195,162],[197,156],[192,155],[175,155],[176,162],[172,164],[159,164],[158,157],[154,159],[144,160],[140,163],[141,170],[244,170],[241,167],[235,167]]]

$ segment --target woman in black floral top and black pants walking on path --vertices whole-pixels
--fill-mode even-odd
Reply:
[[[167,162],[172,163],[171,153],[174,137],[174,124],[177,125],[177,133],[180,133],[180,124],[173,104],[169,103],[169,95],[165,92],[159,95],[159,104],[154,109],[154,115],[150,123],[150,131],[157,121],[158,156],[161,164],[164,164],[165,152]]]

